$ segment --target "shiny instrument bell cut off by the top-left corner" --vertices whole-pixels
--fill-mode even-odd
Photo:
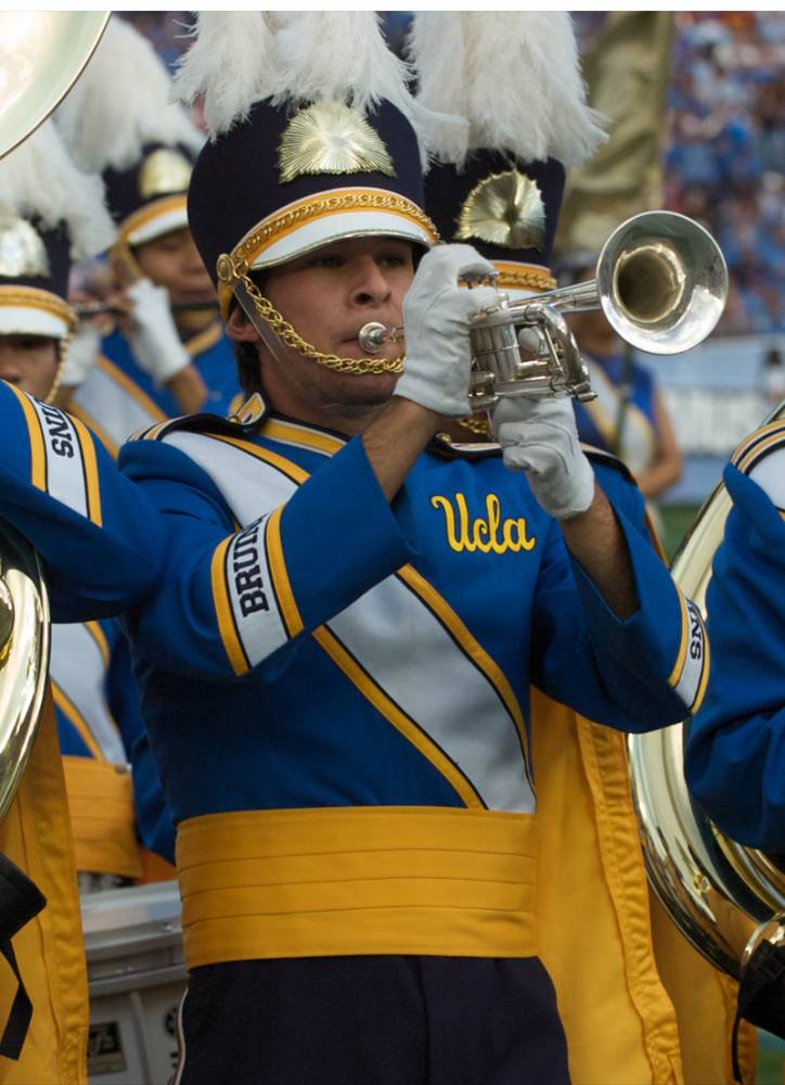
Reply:
[[[0,157],[65,98],[92,56],[108,12],[0,12]]]

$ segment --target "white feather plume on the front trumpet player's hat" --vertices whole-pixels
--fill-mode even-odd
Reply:
[[[382,99],[417,135],[437,120],[465,131],[459,117],[432,118],[408,90],[409,66],[386,46],[374,12],[201,12],[195,42],[175,84],[184,102],[205,95],[211,139],[248,116],[250,105],[350,101],[368,108]]]

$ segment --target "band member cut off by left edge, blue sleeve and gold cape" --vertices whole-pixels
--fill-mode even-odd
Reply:
[[[118,613],[154,582],[163,549],[154,506],[51,401],[76,327],[66,302],[70,263],[102,251],[112,235],[100,179],[77,173],[50,124],[0,162],[0,515],[40,554],[61,622]],[[67,628],[54,636],[55,671]],[[80,679],[89,664],[72,659],[65,677]],[[60,724],[67,740],[70,723],[61,714]],[[87,976],[66,803],[47,697],[0,824],[0,1081],[8,1083],[85,1080]]]

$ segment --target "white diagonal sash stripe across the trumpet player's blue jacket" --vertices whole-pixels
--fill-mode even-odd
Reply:
[[[241,524],[271,512],[297,489],[274,467],[235,446],[195,433],[175,433],[165,441],[203,468]],[[327,626],[460,767],[490,809],[535,809],[517,728],[504,703],[439,620],[398,577],[389,576],[366,591]],[[390,651],[390,629],[397,642],[407,644],[403,658]],[[261,638],[255,642],[260,643]],[[243,644],[247,651],[245,635]],[[427,663],[415,669],[413,660]]]

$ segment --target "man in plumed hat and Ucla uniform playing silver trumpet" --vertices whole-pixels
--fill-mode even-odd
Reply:
[[[491,270],[469,246],[422,255],[420,111],[375,16],[200,27],[189,217],[249,398],[120,459],[169,525],[128,623],[178,822],[178,1081],[566,1082],[529,682],[620,730],[681,719],[691,604],[595,487],[569,404],[498,418],[502,455],[430,447],[468,413],[497,295],[459,288]],[[401,317],[402,375],[358,343]]]

